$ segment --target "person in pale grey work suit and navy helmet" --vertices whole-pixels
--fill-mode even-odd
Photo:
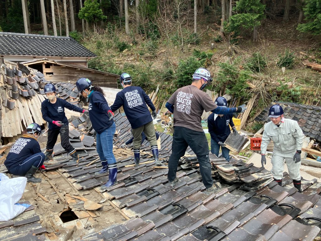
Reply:
[[[274,181],[282,186],[284,161],[288,166],[289,175],[293,185],[301,192],[301,148],[304,134],[297,121],[285,119],[283,109],[280,105],[272,105],[269,110],[271,121],[264,125],[261,143],[261,164],[266,164],[266,148],[273,141],[273,155],[271,159]]]

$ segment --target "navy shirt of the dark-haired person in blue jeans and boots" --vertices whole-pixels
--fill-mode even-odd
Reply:
[[[92,128],[100,134],[110,127],[114,120],[109,121],[107,112],[110,110],[105,97],[98,91],[92,91],[89,94],[90,102],[88,106],[89,118]]]

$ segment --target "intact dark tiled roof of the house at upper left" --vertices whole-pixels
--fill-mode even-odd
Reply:
[[[0,55],[97,57],[71,37],[0,32]]]

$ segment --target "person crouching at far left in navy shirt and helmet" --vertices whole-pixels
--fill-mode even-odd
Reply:
[[[16,140],[4,161],[9,173],[25,176],[28,182],[41,182],[40,178],[33,176],[45,161],[45,154],[41,152],[37,141],[40,134],[40,126],[32,123],[23,132],[22,137]]]

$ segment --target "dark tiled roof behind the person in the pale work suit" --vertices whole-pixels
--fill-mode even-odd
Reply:
[[[296,104],[290,102],[273,102],[269,104],[256,118],[256,121],[268,122],[269,109],[273,104],[280,104],[284,117],[298,121],[304,135],[321,142],[321,106]]]

